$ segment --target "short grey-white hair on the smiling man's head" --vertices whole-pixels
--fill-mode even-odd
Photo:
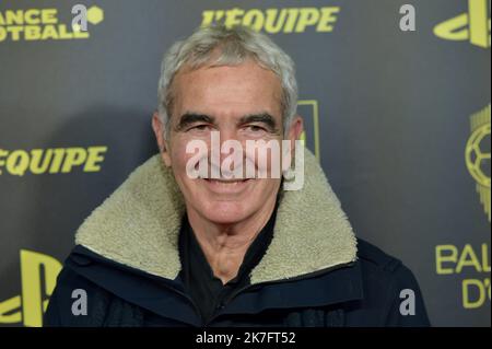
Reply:
[[[184,65],[190,69],[237,66],[251,58],[279,77],[282,86],[283,128],[288,130],[297,108],[293,60],[263,34],[246,26],[226,27],[218,24],[198,28],[188,38],[176,42],[164,55],[159,80],[159,115],[166,133],[169,131],[168,120],[174,98],[173,78]]]

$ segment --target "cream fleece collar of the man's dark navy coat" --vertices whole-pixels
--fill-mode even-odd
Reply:
[[[305,151],[304,187],[284,191],[273,239],[251,283],[300,277],[356,258],[356,239],[316,158]],[[82,223],[75,243],[151,275],[174,280],[185,205],[155,154],[136,168]]]

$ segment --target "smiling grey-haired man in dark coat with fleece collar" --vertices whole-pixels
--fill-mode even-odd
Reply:
[[[356,240],[314,155],[297,152],[294,65],[281,48],[241,26],[200,28],[165,55],[159,97],[161,152],[80,226],[46,325],[429,325],[411,271]],[[225,168],[227,151],[211,155],[214,132],[221,144],[288,140],[297,148],[282,170],[301,153],[302,187],[191,175]],[[196,163],[194,141],[212,148]],[[259,172],[256,158],[239,156]],[[268,173],[279,155],[267,158]]]

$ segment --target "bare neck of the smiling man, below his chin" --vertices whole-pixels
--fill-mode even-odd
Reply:
[[[221,279],[222,283],[225,284],[236,277],[249,245],[267,224],[274,206],[274,200],[267,202],[261,210],[233,224],[215,224],[192,209],[187,209],[195,236],[213,275]]]

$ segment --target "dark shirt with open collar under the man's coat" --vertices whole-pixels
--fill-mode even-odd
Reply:
[[[249,284],[249,272],[261,260],[273,237],[277,206],[267,224],[249,245],[236,277],[223,284],[213,275],[207,257],[198,243],[185,213],[179,232],[180,278],[186,292],[200,311],[203,322],[208,322],[216,311],[234,296],[234,293]]]

